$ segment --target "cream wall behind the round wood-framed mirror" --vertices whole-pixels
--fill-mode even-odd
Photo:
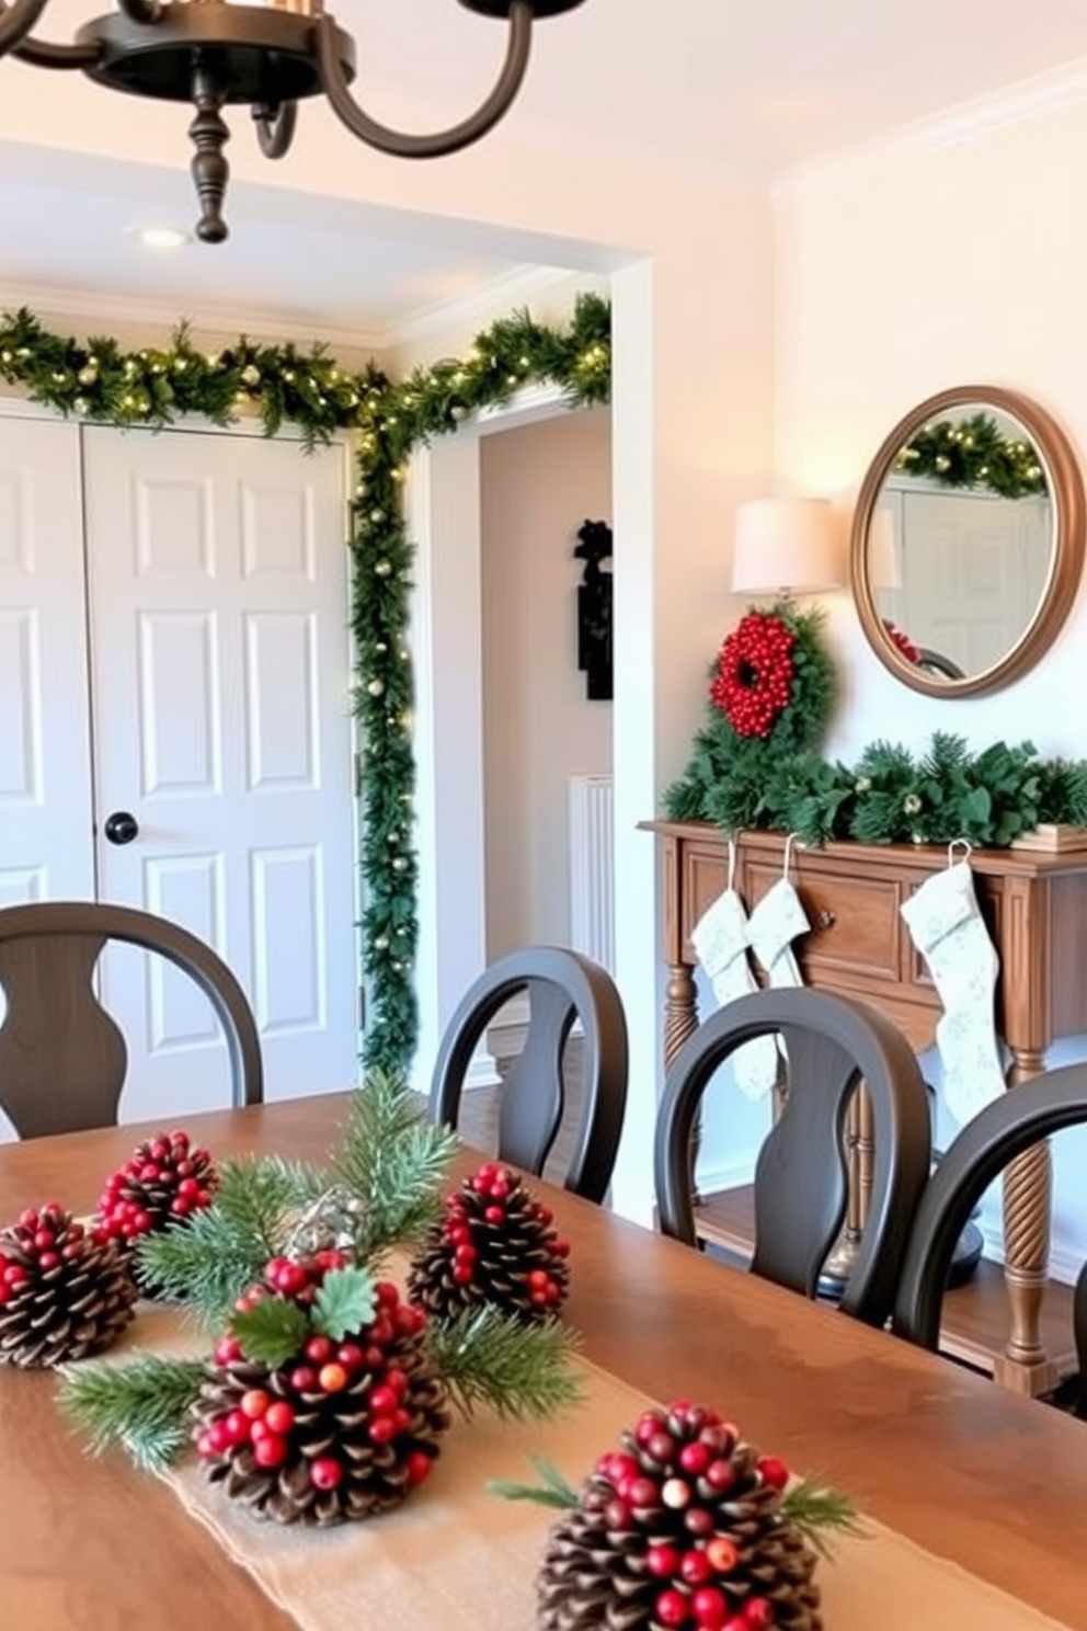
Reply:
[[[1087,458],[1087,104],[1054,106],[973,140],[903,145],[797,178],[776,212],[776,442],[782,483],[849,502],[895,421],[968,382],[1035,396]],[[1050,656],[994,696],[940,703],[869,654],[846,597],[831,603],[846,675],[833,752],[934,729],[975,745],[1030,737],[1087,757],[1087,590]],[[1084,1057],[1087,1039],[1051,1062]],[[1054,1267],[1087,1251],[1087,1134],[1056,1145]]]

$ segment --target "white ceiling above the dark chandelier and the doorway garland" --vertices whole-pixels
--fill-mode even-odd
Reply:
[[[55,8],[60,15],[55,15]],[[104,10],[54,0],[39,33]],[[504,31],[453,0],[331,0],[359,42],[357,90],[391,117],[460,117],[489,86]],[[652,153],[657,165],[769,179],[1035,75],[1087,59],[1084,0],[585,0],[538,29],[528,82],[507,126],[520,142]],[[515,271],[451,243],[435,223],[411,240],[391,219],[360,230],[355,209],[295,199],[285,248],[279,189],[231,184],[231,240],[176,254],[140,250],[130,228],[194,217],[184,117],[176,173],[3,144],[2,83],[36,73],[0,64],[0,302],[64,308],[64,290],[139,308],[197,307],[233,321],[292,313],[315,333],[381,331]],[[98,95],[108,96],[108,91]],[[132,104],[134,129],[139,104]],[[236,140],[251,134],[238,126]],[[297,142],[305,142],[305,114]],[[494,140],[495,137],[492,137]],[[134,144],[139,147],[139,144]],[[301,274],[300,274],[301,269]],[[52,297],[52,300],[51,300]]]

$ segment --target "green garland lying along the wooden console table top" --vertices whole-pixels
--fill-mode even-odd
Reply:
[[[671,820],[795,832],[805,843],[966,838],[989,848],[1041,822],[1087,825],[1087,762],[1040,758],[1032,742],[971,754],[962,737],[937,732],[921,755],[872,742],[852,767],[756,745],[707,760],[699,736],[688,773],[665,794]]]

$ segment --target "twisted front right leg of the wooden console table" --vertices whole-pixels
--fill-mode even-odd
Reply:
[[[1041,1050],[1015,1049],[1009,1088],[1040,1075]],[[1004,1173],[1004,1282],[1012,1306],[1007,1347],[994,1375],[1015,1393],[1036,1396],[1058,1383],[1058,1367],[1041,1341],[1041,1302],[1050,1271],[1053,1173],[1048,1142],[1036,1143]]]

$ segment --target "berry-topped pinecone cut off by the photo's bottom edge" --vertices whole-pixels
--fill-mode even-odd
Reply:
[[[701,1406],[649,1411],[552,1528],[541,1631],[821,1631],[816,1554],[782,1515],[789,1471]]]

